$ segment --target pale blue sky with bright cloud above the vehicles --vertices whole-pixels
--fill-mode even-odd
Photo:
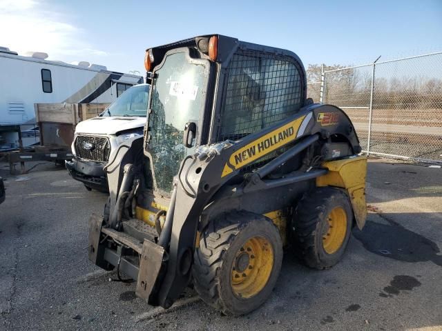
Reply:
[[[220,33],[287,48],[309,63],[361,64],[442,50],[442,0],[0,0],[0,46],[109,70],[143,68],[144,50]]]

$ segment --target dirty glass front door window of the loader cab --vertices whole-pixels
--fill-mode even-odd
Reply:
[[[209,66],[205,63],[206,60],[190,59],[183,50],[166,54],[162,66],[155,70],[148,151],[157,188],[162,192],[171,192],[181,161],[195,150],[184,146],[184,127],[187,122],[194,122],[198,127],[208,80]]]

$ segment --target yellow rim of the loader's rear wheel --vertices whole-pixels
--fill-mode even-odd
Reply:
[[[347,234],[347,213],[342,207],[335,207],[327,216],[323,231],[323,247],[327,254],[334,254],[343,245]]]

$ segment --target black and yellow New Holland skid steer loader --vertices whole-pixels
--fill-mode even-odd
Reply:
[[[193,283],[236,315],[269,297],[284,249],[336,264],[365,223],[367,160],[347,115],[307,99],[296,54],[215,34],[150,48],[144,62],[144,138],[106,165],[89,259],[151,305],[169,308]]]

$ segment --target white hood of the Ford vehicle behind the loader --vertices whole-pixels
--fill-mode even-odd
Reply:
[[[81,121],[75,127],[75,133],[116,134],[119,131],[144,127],[146,117],[94,117]]]

